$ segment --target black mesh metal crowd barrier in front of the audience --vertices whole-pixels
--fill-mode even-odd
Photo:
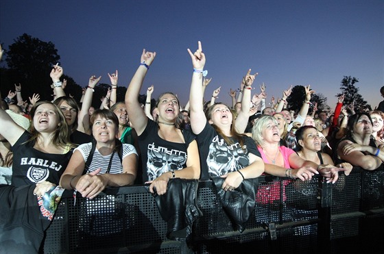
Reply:
[[[213,181],[200,181],[202,212],[187,240],[167,238],[147,186],[109,188],[95,200],[65,191],[44,253],[384,253],[384,168],[354,168],[337,183],[262,176],[245,230],[236,231]]]

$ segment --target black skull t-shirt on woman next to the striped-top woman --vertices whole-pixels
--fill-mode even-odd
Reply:
[[[185,129],[182,130],[182,135],[185,143],[163,140],[158,136],[158,124],[148,119],[147,126],[138,137],[143,183],[152,181],[167,171],[187,167],[187,149],[195,136]]]

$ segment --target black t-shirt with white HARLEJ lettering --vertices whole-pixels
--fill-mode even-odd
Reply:
[[[34,185],[41,181],[58,185],[72,151],[64,154],[43,153],[34,149],[34,142],[27,142],[29,138],[31,134],[25,131],[11,149],[12,186]]]

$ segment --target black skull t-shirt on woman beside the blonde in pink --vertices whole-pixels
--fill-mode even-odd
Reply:
[[[248,154],[261,157],[256,143],[252,138],[243,136],[244,147],[236,140],[227,144],[223,137],[207,122],[202,132],[197,135],[197,146],[200,152],[200,166],[202,172],[200,179],[225,175],[250,164]]]

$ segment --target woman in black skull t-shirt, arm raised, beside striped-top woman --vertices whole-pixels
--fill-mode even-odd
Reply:
[[[156,188],[157,194],[165,194],[171,178],[200,177],[200,158],[195,136],[181,129],[177,121],[180,120],[180,104],[175,94],[160,94],[155,106],[155,120],[145,115],[138,101],[145,75],[155,57],[156,52],[143,49],[141,64],[125,93],[125,105],[138,135],[143,182],[150,183],[150,192],[154,193]]]

